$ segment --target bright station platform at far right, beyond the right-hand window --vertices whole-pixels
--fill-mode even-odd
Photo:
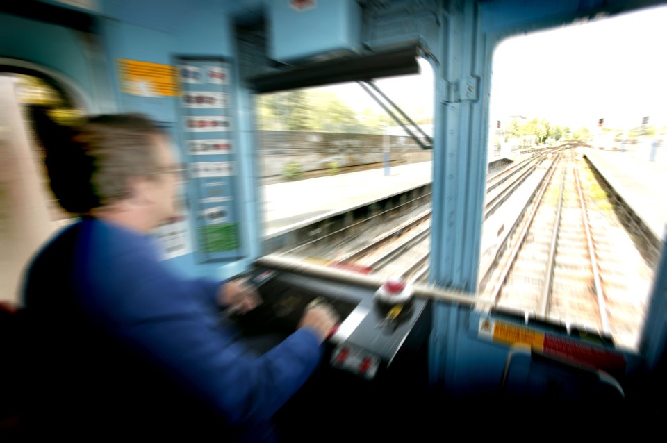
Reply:
[[[667,224],[667,161],[631,151],[579,148],[651,233],[662,240]]]

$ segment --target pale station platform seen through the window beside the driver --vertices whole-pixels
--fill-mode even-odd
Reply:
[[[328,214],[384,199],[432,179],[432,162],[370,169],[261,187],[265,229],[270,237],[315,222]]]

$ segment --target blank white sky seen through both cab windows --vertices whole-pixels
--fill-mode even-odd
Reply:
[[[433,109],[433,72],[377,81],[409,115]],[[491,116],[609,128],[667,126],[667,7],[510,37],[493,56]],[[356,83],[335,86],[357,111],[377,104]]]

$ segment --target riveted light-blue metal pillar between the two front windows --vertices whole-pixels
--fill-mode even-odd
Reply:
[[[477,289],[484,183],[490,56],[475,1],[445,2],[436,66],[431,283]],[[458,308],[454,308],[454,311]],[[452,307],[434,307],[431,383],[452,374],[456,333],[463,321]]]

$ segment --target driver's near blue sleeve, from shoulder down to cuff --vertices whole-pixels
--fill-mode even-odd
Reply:
[[[318,366],[322,345],[308,329],[257,356],[192,296],[201,291],[200,281],[170,274],[145,249],[90,244],[83,260],[88,267],[82,283],[85,309],[205,396],[229,423],[265,421]]]

